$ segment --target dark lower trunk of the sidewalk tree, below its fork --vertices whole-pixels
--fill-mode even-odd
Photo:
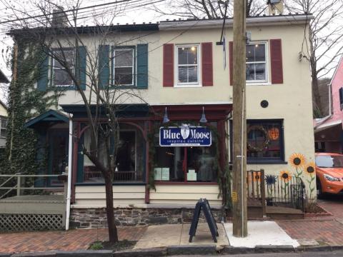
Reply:
[[[110,173],[110,171],[107,171]],[[104,176],[106,188],[106,216],[107,226],[109,226],[109,242],[118,242],[118,231],[116,230],[116,223],[114,223],[114,209],[113,209],[113,186],[110,174]]]

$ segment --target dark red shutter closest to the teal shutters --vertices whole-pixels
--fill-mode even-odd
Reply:
[[[174,44],[163,45],[163,86],[174,86]]]

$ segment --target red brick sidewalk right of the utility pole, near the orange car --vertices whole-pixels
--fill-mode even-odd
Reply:
[[[293,221],[277,221],[277,223],[294,239],[314,239],[319,243],[326,243],[329,246],[342,246],[342,198],[319,200],[318,204],[332,213],[333,216]]]

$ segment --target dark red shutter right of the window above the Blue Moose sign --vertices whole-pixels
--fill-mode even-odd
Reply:
[[[213,86],[212,43],[202,43],[202,86]]]

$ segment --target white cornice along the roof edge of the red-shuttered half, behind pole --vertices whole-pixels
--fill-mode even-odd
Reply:
[[[261,25],[293,25],[293,24],[309,24],[309,20],[314,19],[312,14],[289,14],[289,15],[273,15],[273,16],[254,16],[247,18],[247,26]],[[233,18],[225,20],[226,27],[232,27],[234,24]],[[174,25],[174,26],[171,26]],[[217,28],[223,26],[223,19],[192,19],[192,20],[174,20],[161,21],[159,24],[160,30],[174,30],[192,26],[197,29]]]

